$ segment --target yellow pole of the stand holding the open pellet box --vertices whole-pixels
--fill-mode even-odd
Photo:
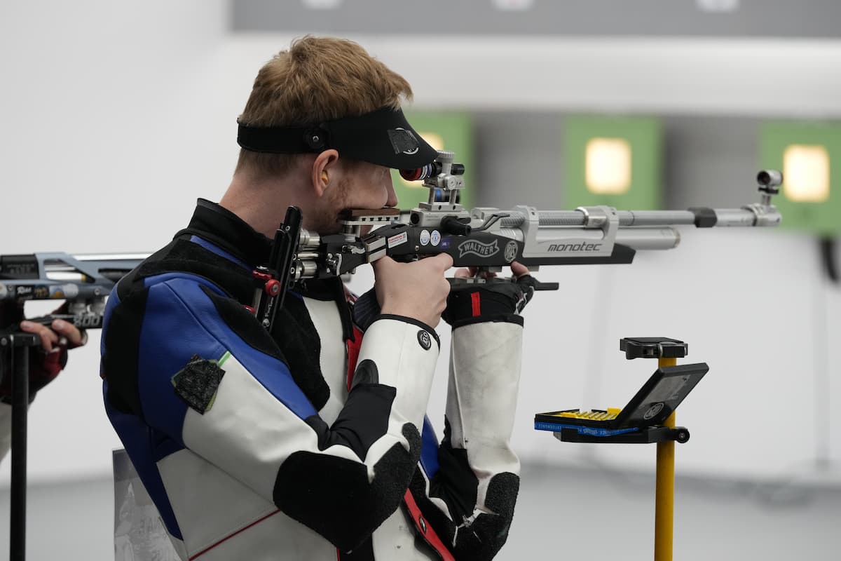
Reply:
[[[674,366],[676,358],[657,360],[658,367]],[[674,428],[674,412],[664,426]],[[674,531],[674,441],[657,443],[657,487],[654,499],[654,561],[672,561]]]

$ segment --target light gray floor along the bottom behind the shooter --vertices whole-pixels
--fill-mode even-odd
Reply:
[[[526,465],[497,559],[653,558],[653,489],[653,474]],[[28,495],[28,559],[114,559],[110,480],[33,484]],[[8,500],[0,490],[0,559],[8,559]],[[841,555],[838,488],[679,477],[674,511],[680,561]]]

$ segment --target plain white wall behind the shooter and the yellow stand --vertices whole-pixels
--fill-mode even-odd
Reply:
[[[257,68],[290,39],[227,36],[222,0],[136,3],[132,11],[104,1],[2,9],[3,254],[163,245],[194,198],[220,197],[235,161],[235,117]],[[841,85],[826,71],[841,60],[838,43],[357,39],[405,74],[420,108],[841,114]],[[836,379],[830,388],[816,383],[816,310],[828,310],[828,341],[841,329],[838,291],[820,286],[812,245],[791,233],[690,232],[677,250],[630,267],[543,271],[563,290],[538,294],[526,310],[516,426],[524,458],[650,465],[651,447],[561,444],[533,431],[532,415],[624,405],[653,365],[627,363],[616,341],[664,335],[689,341],[690,359],[711,365],[681,406],[679,422],[693,437],[679,447],[680,469],[807,471],[824,424],[816,396],[839,389]],[[829,366],[837,372],[837,360]],[[103,415],[97,373],[95,334],[33,405],[31,479],[110,470],[119,441]],[[791,408],[797,412],[780,422],[780,410]],[[841,434],[841,420],[831,422]]]

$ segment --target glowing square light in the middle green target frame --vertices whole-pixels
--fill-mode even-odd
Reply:
[[[622,194],[631,188],[631,145],[621,138],[593,138],[584,152],[584,181],[590,193]]]

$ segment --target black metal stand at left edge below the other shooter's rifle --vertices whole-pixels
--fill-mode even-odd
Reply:
[[[40,346],[32,333],[0,336],[9,349],[12,375],[12,490],[9,508],[9,560],[26,558],[26,416],[29,410],[29,349]]]

